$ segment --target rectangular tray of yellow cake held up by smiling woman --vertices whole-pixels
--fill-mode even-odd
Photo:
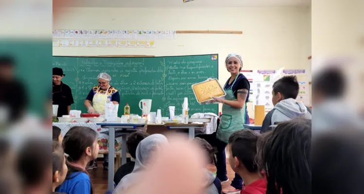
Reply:
[[[212,99],[211,97],[222,97],[226,95],[216,79],[193,84],[192,90],[197,102],[204,102]]]

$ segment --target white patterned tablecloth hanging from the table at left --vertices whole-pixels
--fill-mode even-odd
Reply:
[[[83,126],[94,129],[99,133],[98,144],[100,152],[108,151],[107,144],[109,136],[100,132],[108,131],[108,129],[101,128],[96,123],[53,123],[53,126],[57,126],[62,130],[62,136],[64,137],[67,131],[74,126]],[[121,153],[121,137],[115,138],[115,152]]]

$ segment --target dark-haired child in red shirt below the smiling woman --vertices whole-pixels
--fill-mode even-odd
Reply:
[[[265,194],[267,189],[255,163],[259,137],[259,133],[250,129],[235,131],[229,137],[230,166],[244,180],[241,194]]]

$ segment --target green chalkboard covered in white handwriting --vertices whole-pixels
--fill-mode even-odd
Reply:
[[[218,105],[199,105],[191,85],[208,78],[218,78],[218,55],[193,55],[145,58],[116,57],[59,57],[53,56],[53,67],[63,69],[63,82],[72,89],[75,103],[72,110],[86,113],[84,100],[92,87],[97,85],[97,76],[108,73],[110,85],[119,90],[120,107],[129,104],[131,113],[141,115],[139,101],[152,99],[151,112],[161,109],[169,116],[169,106],[175,106],[175,115],[182,114],[185,97],[189,98],[189,114],[216,113]]]

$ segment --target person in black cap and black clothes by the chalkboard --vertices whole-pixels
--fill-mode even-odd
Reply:
[[[71,104],[73,104],[73,97],[71,88],[63,83],[61,80],[65,74],[63,70],[58,67],[53,68],[53,104],[58,104],[57,117],[62,117],[62,115],[68,115],[71,110]]]

